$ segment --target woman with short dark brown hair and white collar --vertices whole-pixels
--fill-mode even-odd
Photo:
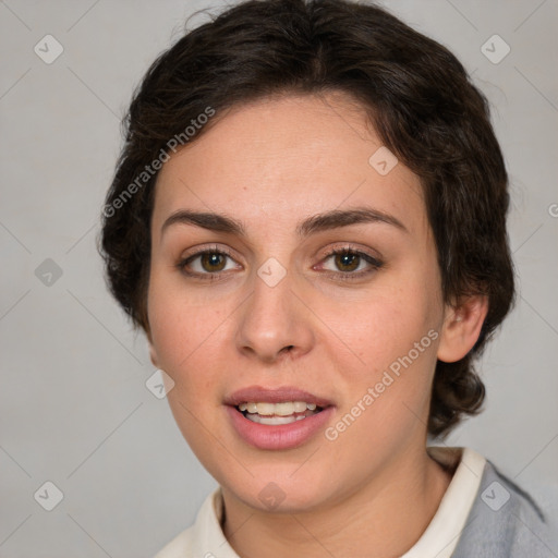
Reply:
[[[155,61],[102,251],[219,483],[157,558],[551,556],[527,494],[426,446],[483,402],[508,201],[485,98],[379,8],[247,1]]]

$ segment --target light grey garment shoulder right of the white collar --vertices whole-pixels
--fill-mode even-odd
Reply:
[[[454,558],[558,555],[558,488],[527,492],[486,461]]]

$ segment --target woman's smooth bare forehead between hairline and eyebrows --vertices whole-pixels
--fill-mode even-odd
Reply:
[[[424,228],[418,178],[389,159],[364,109],[347,96],[267,98],[214,118],[162,166],[154,228],[184,207],[233,214],[256,228],[356,205]],[[397,163],[380,173],[378,157]]]

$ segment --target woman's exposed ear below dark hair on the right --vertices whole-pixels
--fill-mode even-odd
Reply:
[[[488,312],[486,295],[465,296],[456,305],[446,305],[438,344],[438,360],[456,362],[474,347]]]

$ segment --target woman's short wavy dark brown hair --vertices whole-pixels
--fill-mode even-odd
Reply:
[[[463,413],[480,412],[485,388],[473,359],[513,303],[508,177],[486,98],[463,65],[384,9],[349,0],[248,0],[185,33],[158,57],[134,93],[106,198],[100,251],[109,287],[134,325],[148,332],[157,173],[144,185],[137,177],[168,153],[169,138],[184,134],[207,107],[217,121],[238,104],[327,92],[362,105],[384,144],[421,178],[445,301],[488,298],[473,349],[458,362],[436,365],[428,433],[447,435]],[[211,125],[196,129],[190,143]]]

